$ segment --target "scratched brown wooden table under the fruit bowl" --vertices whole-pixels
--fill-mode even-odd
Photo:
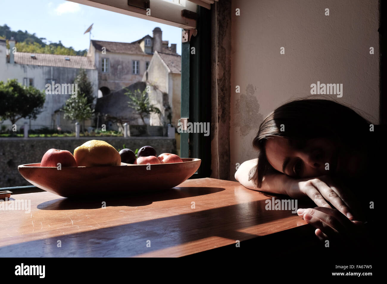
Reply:
[[[2,257],[180,257],[306,224],[291,211],[265,210],[270,196],[210,178],[119,199],[11,198],[30,200],[31,212],[0,210]]]

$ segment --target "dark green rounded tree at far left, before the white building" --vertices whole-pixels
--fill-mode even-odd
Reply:
[[[41,113],[46,95],[29,86],[23,86],[17,79],[0,82],[0,119],[9,119],[15,124],[21,118],[36,119]]]

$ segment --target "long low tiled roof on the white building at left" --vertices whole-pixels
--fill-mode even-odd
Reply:
[[[31,55],[34,55],[35,58],[31,57]],[[96,68],[91,58],[88,56],[15,52],[14,58],[15,58],[15,63],[17,64],[68,67],[68,68],[84,68],[84,69]],[[66,60],[65,58],[69,58],[70,60]]]

